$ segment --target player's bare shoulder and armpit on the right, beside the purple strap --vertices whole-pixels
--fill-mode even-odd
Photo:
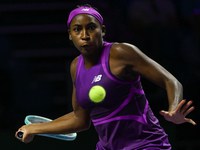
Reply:
[[[135,68],[140,66],[145,59],[143,53],[135,45],[114,43],[110,49],[110,70],[119,78],[135,80],[138,79]]]

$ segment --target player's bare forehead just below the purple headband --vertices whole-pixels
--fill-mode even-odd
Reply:
[[[73,25],[73,24],[88,24],[88,23],[99,23],[99,21],[92,15],[89,15],[89,14],[79,14],[77,16],[75,16],[70,25]]]

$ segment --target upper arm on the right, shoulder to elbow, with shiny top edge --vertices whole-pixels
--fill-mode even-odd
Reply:
[[[118,60],[124,66],[129,66],[129,71],[133,75],[140,75],[163,88],[166,88],[167,81],[176,80],[172,74],[136,46],[123,43],[116,45],[115,49],[119,56]]]

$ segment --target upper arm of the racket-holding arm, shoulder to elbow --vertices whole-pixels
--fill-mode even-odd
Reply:
[[[73,92],[72,92],[72,106],[74,110],[74,118],[78,119],[81,124],[85,126],[90,126],[90,116],[87,110],[83,109],[76,100],[76,88],[75,88],[75,80],[76,80],[76,68],[77,68],[78,57],[76,57],[70,67],[71,78],[73,82]]]

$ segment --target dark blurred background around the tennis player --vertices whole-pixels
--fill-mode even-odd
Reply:
[[[165,91],[142,78],[173,150],[199,150],[199,0],[1,0],[0,149],[95,149],[93,126],[73,142],[36,136],[24,144],[14,137],[26,115],[55,119],[72,110],[69,68],[79,52],[69,41],[66,21],[76,5],[86,3],[102,13],[108,42],[136,45],[183,84],[184,98],[196,107],[188,117],[197,126],[165,121],[159,115],[168,106]]]

